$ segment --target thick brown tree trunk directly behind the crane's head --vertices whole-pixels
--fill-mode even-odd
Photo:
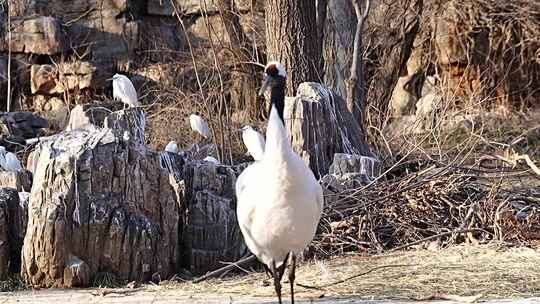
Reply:
[[[266,46],[268,60],[287,69],[287,95],[305,81],[323,79],[321,43],[314,0],[267,0]]]

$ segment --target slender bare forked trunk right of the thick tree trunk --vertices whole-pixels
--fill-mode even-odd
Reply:
[[[347,82],[347,108],[353,114],[356,121],[363,126],[363,108],[364,108],[364,62],[362,59],[362,31],[364,22],[369,14],[371,1],[366,0],[364,11],[360,6],[360,0],[351,0],[356,13],[356,33],[354,35],[353,62]]]

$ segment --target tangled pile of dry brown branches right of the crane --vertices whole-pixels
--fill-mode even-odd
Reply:
[[[322,233],[313,249],[326,256],[428,241],[447,246],[540,240],[540,188],[505,190],[506,178],[486,177],[479,169],[431,163],[372,186],[336,192],[327,187]]]

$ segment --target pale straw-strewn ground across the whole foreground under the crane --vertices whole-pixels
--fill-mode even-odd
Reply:
[[[265,281],[264,273],[249,273],[199,284],[31,290],[0,294],[0,304],[275,303]],[[350,255],[303,263],[297,283],[298,303],[540,303],[540,250],[492,244]],[[288,284],[284,293],[288,299]]]

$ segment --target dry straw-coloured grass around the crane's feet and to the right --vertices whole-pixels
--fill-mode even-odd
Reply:
[[[422,299],[434,294],[482,295],[486,298],[516,298],[540,295],[540,251],[503,245],[455,246],[443,250],[415,250],[380,256],[347,255],[300,265],[297,296],[317,298],[358,297],[365,299]],[[403,265],[403,266],[399,266]],[[368,274],[347,279],[364,273]],[[344,280],[341,284],[328,286]],[[250,273],[199,284],[162,283],[162,288],[187,294],[232,294],[272,297],[274,288],[265,273]],[[286,279],[284,280],[286,281]],[[284,290],[288,294],[288,285]]]

